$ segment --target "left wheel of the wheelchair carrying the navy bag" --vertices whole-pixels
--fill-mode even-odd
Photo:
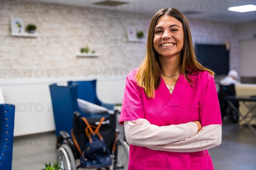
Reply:
[[[61,170],[76,170],[75,158],[67,144],[62,144],[57,150],[57,161]]]

